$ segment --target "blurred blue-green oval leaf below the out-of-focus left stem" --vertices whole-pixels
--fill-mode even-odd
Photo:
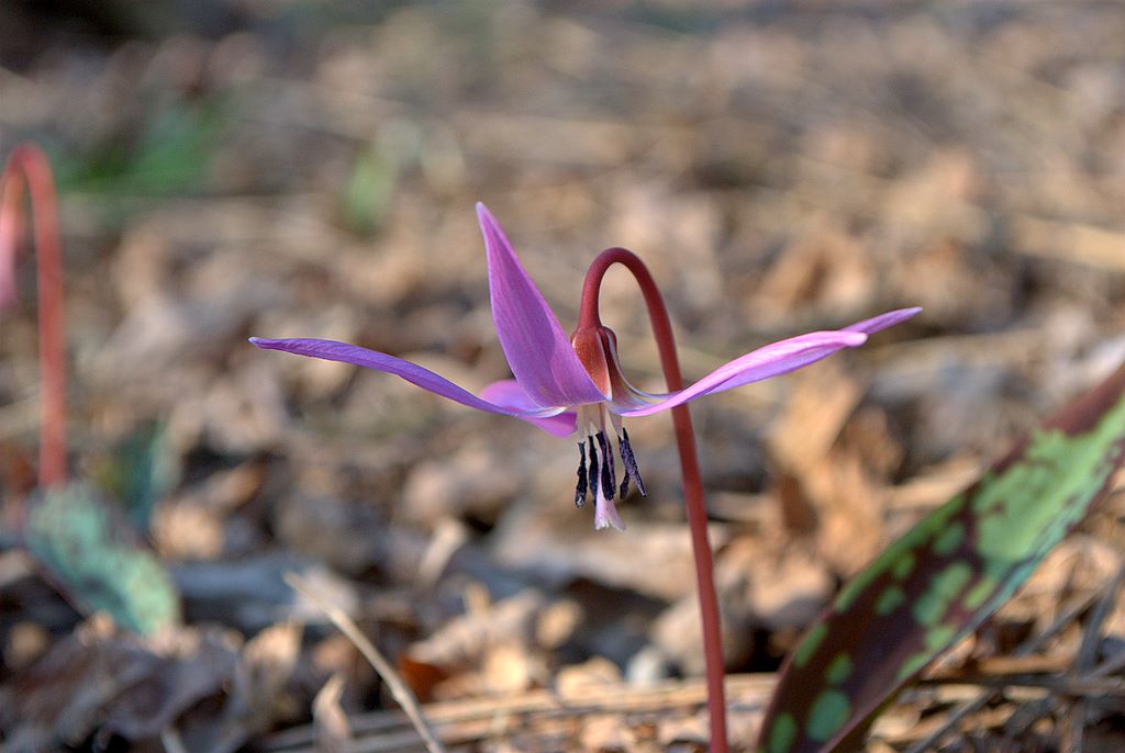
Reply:
[[[28,506],[25,541],[80,610],[104,611],[142,634],[179,623],[179,596],[163,565],[90,487],[38,492]]]

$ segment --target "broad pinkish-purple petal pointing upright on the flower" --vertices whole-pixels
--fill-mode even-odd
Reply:
[[[477,205],[477,219],[488,258],[493,323],[516,381],[543,408],[603,402],[605,396],[590,379],[570,338],[483,203]]]

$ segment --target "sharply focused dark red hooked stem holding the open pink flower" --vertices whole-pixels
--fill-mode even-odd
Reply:
[[[680,373],[676,343],[672,335],[672,323],[652,275],[645,262],[627,248],[606,248],[594,260],[586,272],[582,287],[582,305],[578,312],[578,328],[600,327],[597,291],[605,271],[613,264],[621,264],[637,280],[648,318],[652,324],[652,336],[660,352],[660,366],[668,390],[682,390],[684,378]],[[695,582],[699,589],[700,617],[703,623],[703,655],[706,664],[708,713],[711,718],[711,751],[727,752],[727,700],[723,689],[722,630],[719,620],[719,599],[714,590],[714,565],[711,543],[706,534],[706,506],[703,503],[703,481],[700,478],[699,456],[695,452],[695,432],[687,406],[672,409],[672,421],[676,429],[676,446],[680,450],[680,469],[684,479],[684,500],[687,507],[687,525],[692,534],[692,551],[695,556]]]

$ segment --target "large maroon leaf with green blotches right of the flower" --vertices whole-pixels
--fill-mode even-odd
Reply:
[[[867,565],[783,668],[764,753],[845,750],[884,702],[1007,601],[1108,491],[1125,366]]]

